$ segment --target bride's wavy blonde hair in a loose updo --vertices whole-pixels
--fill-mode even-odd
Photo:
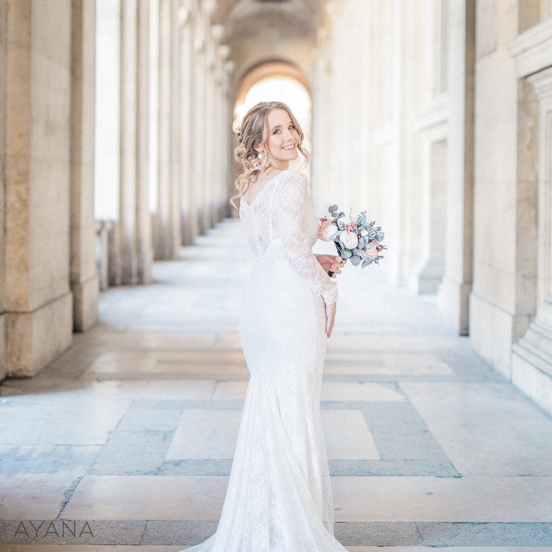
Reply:
[[[301,152],[302,156],[305,157],[305,163],[309,161],[309,152],[302,147],[305,133],[303,133],[298,120],[295,119],[295,116],[291,113],[291,109],[282,102],[260,102],[247,111],[245,117],[243,117],[241,129],[238,131],[240,143],[236,149],[234,149],[234,157],[239,163],[238,176],[236,177],[235,183],[238,193],[230,200],[230,203],[232,203],[234,207],[236,206],[235,201],[247,192],[252,182],[257,179],[257,174],[259,174],[263,168],[266,168],[270,161],[268,159],[268,150],[265,145],[266,138],[268,138],[266,116],[275,109],[284,109],[284,111],[289,113],[291,123],[299,133],[297,149]],[[261,144],[261,152],[255,150],[257,144]],[[257,158],[259,153],[262,154],[262,159]]]

